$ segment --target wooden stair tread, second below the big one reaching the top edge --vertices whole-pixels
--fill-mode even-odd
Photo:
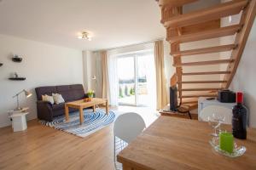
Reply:
[[[197,48],[197,49],[190,49],[190,50],[184,50],[184,51],[178,51],[175,53],[171,52],[172,56],[187,56],[187,55],[196,55],[196,54],[210,54],[210,53],[219,53],[224,51],[230,51],[232,49],[236,48],[235,44],[229,44],[229,45],[220,45],[216,47],[211,48]]]

